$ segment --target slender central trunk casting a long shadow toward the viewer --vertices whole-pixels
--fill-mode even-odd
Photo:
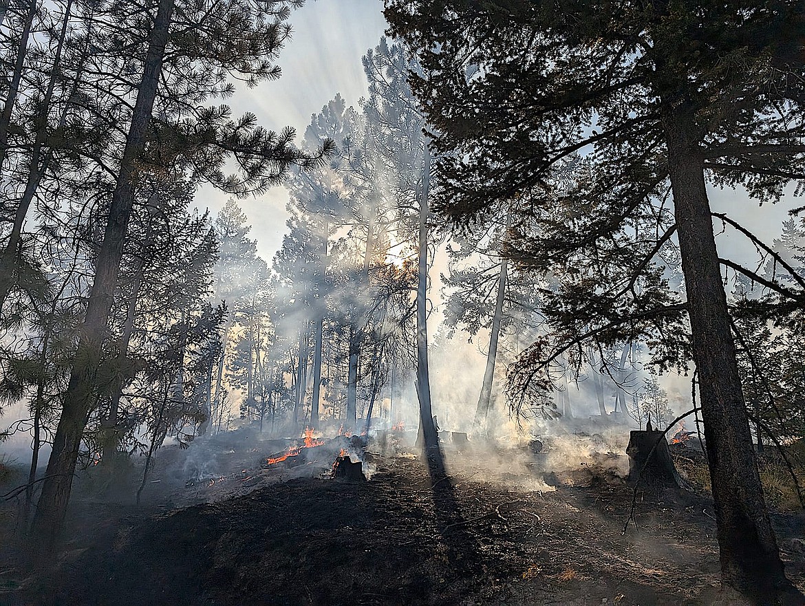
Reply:
[[[422,199],[419,202],[419,270],[416,286],[416,395],[419,398],[419,423],[427,451],[438,450],[439,435],[433,423],[431,379],[427,365],[427,221],[428,194],[431,181],[431,152],[425,146],[422,175]]]

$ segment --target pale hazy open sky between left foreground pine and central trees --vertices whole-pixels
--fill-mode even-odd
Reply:
[[[299,142],[312,114],[336,93],[357,107],[366,94],[361,57],[378,45],[386,29],[382,8],[381,0],[308,0],[291,15],[293,39],[278,61],[283,76],[254,89],[241,87],[229,100],[233,113],[254,112],[270,130],[293,126]],[[226,198],[203,188],[196,204],[214,213]],[[259,254],[269,263],[283,241],[287,199],[285,188],[279,187],[239,202],[253,225],[251,236],[257,238]]]

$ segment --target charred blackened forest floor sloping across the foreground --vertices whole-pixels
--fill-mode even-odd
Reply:
[[[445,456],[436,480],[415,456],[369,454],[365,482],[269,469],[271,481],[188,482],[139,508],[79,500],[52,575],[5,550],[0,606],[729,603],[705,493],[638,493],[624,531],[633,492],[615,456],[549,474],[554,487],[512,472],[506,452]],[[805,516],[773,517],[803,589]]]

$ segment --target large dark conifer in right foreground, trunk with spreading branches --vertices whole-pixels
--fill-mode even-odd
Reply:
[[[758,602],[786,593],[721,282],[720,265],[738,264],[716,251],[705,183],[741,184],[751,196],[776,200],[802,174],[802,4],[389,0],[386,17],[430,74],[413,75],[412,86],[435,147],[445,152],[438,167],[445,215],[466,222],[517,193],[540,216],[559,197],[584,214],[559,229],[564,237],[554,244],[610,238],[617,245],[624,225],[661,208],[650,200],[671,194],[675,224],[652,230],[659,236],[626,264],[632,270],[621,284],[629,294],[629,275],[652,270],[663,242],[679,241],[722,579]],[[571,195],[546,194],[579,150],[592,162],[591,179]],[[663,301],[663,280],[646,286],[630,295],[642,305],[625,316],[612,311],[614,297],[598,300],[609,317],[593,318],[591,330],[679,314],[673,297]],[[588,291],[594,296],[568,295],[578,303],[609,294],[601,284]],[[612,294],[622,298],[621,289]],[[675,345],[684,358],[684,340]],[[537,365],[545,359],[532,353]]]

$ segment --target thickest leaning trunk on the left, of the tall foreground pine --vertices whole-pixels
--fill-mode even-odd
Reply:
[[[89,292],[85,319],[81,324],[81,340],[47,463],[48,477],[43,482],[42,495],[39,497],[34,518],[39,555],[46,557],[55,554],[53,546],[67,512],[81,437],[95,403],[94,390],[98,365],[103,355],[106,323],[114,302],[114,287],[118,281],[123,243],[126,241],[126,229],[134,204],[138,161],[146,146],[173,6],[174,0],[160,0],[154,29],[151,31],[142,83],[134,104],[118,182],[112,194],[104,239],[97,256],[95,279]]]

